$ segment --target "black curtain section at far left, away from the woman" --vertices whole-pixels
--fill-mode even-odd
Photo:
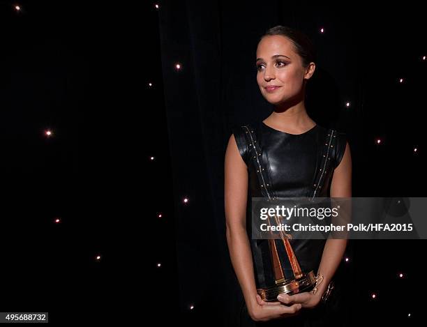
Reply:
[[[0,1],[0,312],[177,317],[156,9],[18,2]]]

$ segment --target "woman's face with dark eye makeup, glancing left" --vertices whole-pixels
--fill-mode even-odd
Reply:
[[[271,104],[301,96],[304,99],[304,79],[314,73],[314,63],[303,67],[302,59],[285,36],[264,36],[257,47],[257,83],[262,96]],[[268,90],[267,86],[278,86]]]

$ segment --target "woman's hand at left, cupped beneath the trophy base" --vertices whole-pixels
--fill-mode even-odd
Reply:
[[[257,303],[248,308],[250,318],[254,321],[268,321],[270,319],[278,319],[292,317],[299,313],[301,304],[294,303],[292,305],[283,305],[280,302],[265,302],[261,296],[257,294]]]

